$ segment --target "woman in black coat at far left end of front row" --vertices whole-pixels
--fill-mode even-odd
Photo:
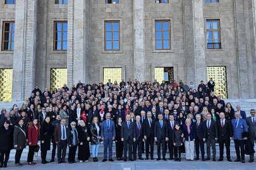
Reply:
[[[9,160],[9,152],[13,149],[13,127],[9,127],[9,121],[4,122],[3,127],[0,128],[0,167],[6,167]],[[4,159],[5,155],[5,159]]]

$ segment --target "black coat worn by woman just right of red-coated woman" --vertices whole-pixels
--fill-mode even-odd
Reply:
[[[45,121],[42,123],[40,128],[40,137],[41,137],[41,151],[51,150],[51,137],[52,137],[52,124],[48,124]],[[44,144],[42,144],[44,141]]]

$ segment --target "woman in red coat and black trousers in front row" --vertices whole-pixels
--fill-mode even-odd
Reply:
[[[38,137],[40,135],[39,125],[37,124],[37,119],[34,118],[32,122],[28,123],[28,165],[35,165],[33,162],[35,147],[37,146]]]

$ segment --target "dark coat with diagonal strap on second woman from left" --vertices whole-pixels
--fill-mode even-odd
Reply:
[[[24,132],[26,133],[24,126],[22,127],[20,127],[20,125],[15,126],[13,140],[15,145],[17,145],[17,147],[15,147],[16,150],[24,149],[27,146],[27,136],[24,134]]]

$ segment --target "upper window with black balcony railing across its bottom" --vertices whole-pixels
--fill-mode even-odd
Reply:
[[[221,33],[219,30],[219,20],[206,20],[207,48],[221,49]]]

